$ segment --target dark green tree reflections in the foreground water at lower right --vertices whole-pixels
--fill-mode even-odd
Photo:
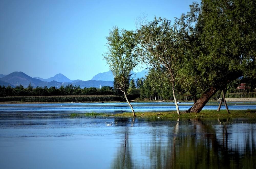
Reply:
[[[240,126],[232,123],[229,118],[215,122],[178,118],[166,124],[167,132],[156,126],[144,140],[131,139],[132,127],[127,125],[135,125],[136,120],[130,119],[123,123],[123,141],[111,168],[253,168],[255,129],[244,126],[245,130],[236,132]]]

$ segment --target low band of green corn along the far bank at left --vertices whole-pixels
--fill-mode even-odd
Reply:
[[[122,96],[114,95],[69,95],[69,96],[6,96],[0,97],[0,102],[102,102],[124,101]]]

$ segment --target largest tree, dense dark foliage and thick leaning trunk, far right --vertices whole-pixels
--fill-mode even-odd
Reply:
[[[188,26],[197,37],[192,57],[204,86],[201,98],[187,112],[200,112],[209,99],[243,76],[256,76],[256,3],[254,0],[202,0],[191,5]],[[192,29],[193,28],[193,29]],[[194,34],[194,35],[195,35]],[[193,35],[193,34],[190,34]]]

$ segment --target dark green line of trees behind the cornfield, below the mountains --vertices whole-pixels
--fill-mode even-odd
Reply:
[[[80,88],[80,86],[67,86],[56,87],[36,87],[33,88],[31,84],[27,88],[19,85],[15,88],[11,86],[0,86],[0,96],[57,96],[57,95],[115,95],[113,87],[103,86],[101,89],[90,87]]]

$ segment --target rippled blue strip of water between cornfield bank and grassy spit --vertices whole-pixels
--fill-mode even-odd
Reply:
[[[236,102],[229,105],[230,110],[247,110],[256,109],[256,103],[244,103]],[[238,105],[235,105],[238,104]],[[160,102],[160,103],[132,103],[134,111],[136,112],[153,112],[153,111],[175,111],[176,107],[174,103]],[[179,109],[181,111],[188,110],[193,103],[182,102],[179,103]],[[203,110],[217,110],[218,103],[208,103]],[[221,106],[221,109],[225,109],[225,105]],[[120,113],[131,112],[131,108],[127,103],[50,103],[50,104],[0,104],[0,113],[17,113],[17,112],[29,112],[29,113],[87,113],[87,112],[100,112],[100,113]]]

